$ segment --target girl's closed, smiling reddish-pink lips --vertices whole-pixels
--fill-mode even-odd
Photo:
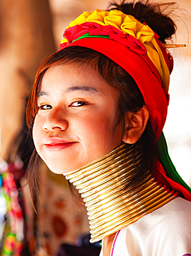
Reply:
[[[44,143],[46,150],[58,151],[74,145],[75,142],[63,140],[62,138],[49,138]]]

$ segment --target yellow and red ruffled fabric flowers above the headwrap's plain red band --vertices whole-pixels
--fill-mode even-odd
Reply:
[[[168,65],[161,51],[162,46],[157,40],[158,36],[149,26],[141,24],[131,15],[125,15],[119,10],[109,12],[97,9],[94,12],[83,12],[66,28],[60,50],[75,39],[80,39],[81,36],[88,37],[87,34],[90,36],[107,35],[110,39],[118,40],[126,46],[129,45],[132,51],[137,50],[140,54],[142,50],[142,53],[147,53],[159,71],[165,90],[168,91],[170,82]]]

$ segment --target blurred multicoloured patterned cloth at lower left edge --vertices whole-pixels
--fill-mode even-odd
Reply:
[[[0,172],[1,256],[20,256],[23,249],[24,220],[16,177],[18,172],[21,176],[23,174],[22,163],[8,165],[1,161]]]

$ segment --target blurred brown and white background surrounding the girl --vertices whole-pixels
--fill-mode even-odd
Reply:
[[[164,133],[172,162],[191,185],[191,1],[177,3],[173,42],[187,47],[170,50],[174,70]],[[86,210],[79,210],[63,176],[43,163],[34,213],[24,178],[33,150],[25,111],[37,68],[57,51],[66,26],[84,10],[107,7],[105,0],[0,0],[0,255],[57,255],[61,244],[77,244],[88,233]]]

